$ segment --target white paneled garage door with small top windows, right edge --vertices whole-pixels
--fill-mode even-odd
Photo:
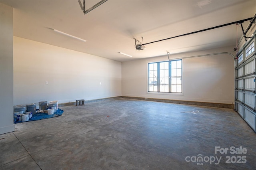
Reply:
[[[238,53],[235,65],[235,110],[256,132],[255,37]]]

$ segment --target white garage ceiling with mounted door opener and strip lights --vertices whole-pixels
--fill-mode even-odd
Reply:
[[[81,0],[82,1],[82,0]],[[108,0],[85,14],[78,0],[0,0],[14,8],[14,36],[116,61],[236,47],[236,24],[135,49],[136,38],[154,42],[251,18],[256,0]],[[86,9],[100,0],[86,0]],[[244,22],[246,28],[249,22]],[[60,30],[82,42],[53,32]],[[238,37],[242,36],[241,27]],[[123,52],[133,57],[122,55]]]

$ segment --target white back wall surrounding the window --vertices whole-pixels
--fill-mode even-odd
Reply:
[[[234,47],[171,55],[188,57],[232,51]],[[139,51],[138,51],[139,52]],[[234,54],[234,51],[232,51]],[[234,59],[230,55],[212,55],[183,59],[184,90],[182,95],[148,93],[147,65],[168,61],[154,57],[122,62],[122,96],[234,104]]]

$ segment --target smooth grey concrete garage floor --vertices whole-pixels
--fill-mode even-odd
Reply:
[[[256,169],[256,134],[232,109],[122,98],[60,109],[0,135],[1,170]]]

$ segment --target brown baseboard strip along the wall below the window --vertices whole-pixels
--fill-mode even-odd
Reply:
[[[180,101],[180,100],[170,100],[170,99],[155,99],[155,98],[145,98],[145,97],[129,97],[122,96],[124,99],[136,99],[136,100],[145,100],[145,101],[157,101],[165,103],[176,103],[183,105],[196,105],[196,106],[208,106],[208,107],[220,107],[227,109],[234,109],[234,104],[225,104],[225,103],[208,103],[208,102],[198,102],[198,101]]]

